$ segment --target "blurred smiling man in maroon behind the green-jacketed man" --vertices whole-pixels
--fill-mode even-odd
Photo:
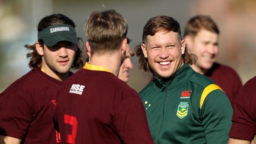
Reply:
[[[215,22],[204,15],[192,17],[185,27],[184,39],[188,52],[198,58],[191,67],[219,85],[233,106],[242,83],[235,70],[215,63],[219,53],[219,29]]]

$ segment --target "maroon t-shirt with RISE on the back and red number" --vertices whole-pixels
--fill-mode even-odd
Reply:
[[[73,74],[61,86],[54,118],[65,144],[154,143],[139,95],[110,72]]]

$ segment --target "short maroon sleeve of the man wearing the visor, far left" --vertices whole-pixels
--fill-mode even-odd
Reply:
[[[15,93],[0,96],[0,135],[22,139],[32,122],[28,102]]]

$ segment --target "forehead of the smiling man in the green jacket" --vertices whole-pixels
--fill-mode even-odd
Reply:
[[[155,35],[147,35],[146,37],[146,43],[148,45],[154,45],[154,44],[166,44],[166,43],[178,43],[179,36],[178,33],[173,31],[160,31],[157,32]]]

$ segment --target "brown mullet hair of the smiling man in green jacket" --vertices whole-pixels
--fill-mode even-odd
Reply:
[[[174,20],[172,17],[165,15],[158,15],[156,17],[150,18],[147,24],[143,28],[142,43],[145,44],[145,39],[148,35],[155,35],[158,32],[162,31],[173,31],[178,33],[180,41],[182,40],[180,24]],[[138,57],[139,68],[145,72],[153,72],[150,66],[148,65],[148,59],[144,57],[143,51],[141,49],[141,44],[135,46],[135,53]],[[187,46],[185,47],[185,52],[182,55],[182,59],[185,63],[189,65],[195,64],[197,61],[197,56],[194,54],[189,54],[187,52]]]

